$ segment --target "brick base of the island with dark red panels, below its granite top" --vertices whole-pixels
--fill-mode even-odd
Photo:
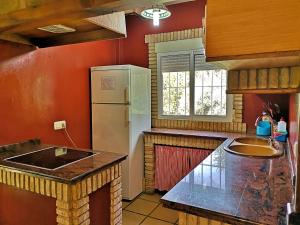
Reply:
[[[99,218],[102,210],[108,214],[105,217],[109,222],[105,224],[121,225],[121,164],[74,184],[0,167],[0,199],[0,224],[37,225],[43,221],[42,224],[89,225],[104,219]],[[98,219],[92,220],[92,214]]]

